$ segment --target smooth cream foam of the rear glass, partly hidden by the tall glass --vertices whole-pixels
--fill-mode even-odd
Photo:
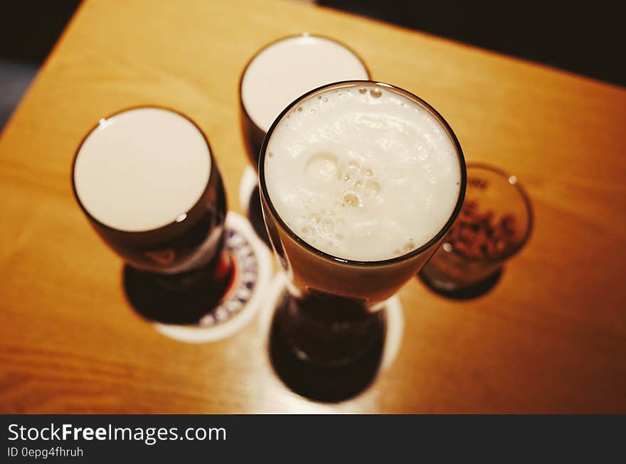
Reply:
[[[253,58],[241,81],[241,98],[253,122],[267,132],[280,112],[309,90],[367,79],[367,70],[351,50],[304,34],[272,43]]]

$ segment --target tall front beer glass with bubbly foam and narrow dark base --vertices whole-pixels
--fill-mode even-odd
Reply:
[[[259,184],[288,281],[278,320],[301,359],[343,365],[367,349],[384,301],[454,222],[465,181],[450,126],[398,87],[336,82],[277,117],[260,151]]]

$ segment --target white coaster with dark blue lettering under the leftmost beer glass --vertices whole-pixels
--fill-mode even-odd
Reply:
[[[225,246],[233,259],[235,274],[218,306],[196,324],[155,323],[157,331],[181,342],[214,342],[233,335],[253,320],[272,276],[270,250],[248,220],[232,211],[226,215]]]

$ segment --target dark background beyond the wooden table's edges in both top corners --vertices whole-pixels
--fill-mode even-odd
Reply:
[[[317,3],[626,85],[623,2],[318,0]],[[0,6],[0,129],[78,4],[78,0],[16,0]],[[235,31],[233,40],[236,40]]]

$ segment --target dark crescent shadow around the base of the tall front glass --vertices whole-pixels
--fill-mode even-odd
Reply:
[[[285,299],[282,299],[285,302]],[[376,378],[385,345],[385,326],[364,355],[349,365],[322,367],[300,360],[285,338],[275,312],[270,330],[270,361],[277,376],[293,392],[314,401],[336,403],[363,392]]]

